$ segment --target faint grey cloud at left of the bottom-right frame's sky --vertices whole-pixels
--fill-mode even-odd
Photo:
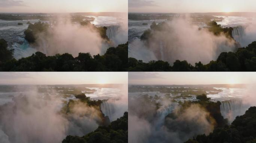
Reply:
[[[162,79],[159,73],[143,73],[140,72],[132,72],[128,73],[129,80],[148,80],[148,79]]]

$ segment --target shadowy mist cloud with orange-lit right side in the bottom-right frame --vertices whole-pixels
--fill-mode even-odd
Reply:
[[[214,129],[215,120],[198,104],[183,108],[167,98],[143,96],[129,96],[129,143],[183,143]]]

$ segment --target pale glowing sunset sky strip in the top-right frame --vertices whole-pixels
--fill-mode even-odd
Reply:
[[[128,0],[129,12],[256,12],[256,0]]]

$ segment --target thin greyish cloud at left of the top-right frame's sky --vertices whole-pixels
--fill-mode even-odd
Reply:
[[[128,0],[129,7],[156,7],[158,6],[153,0]]]

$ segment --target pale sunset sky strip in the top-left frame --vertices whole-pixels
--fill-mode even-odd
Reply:
[[[0,12],[128,12],[127,0],[0,0]]]

